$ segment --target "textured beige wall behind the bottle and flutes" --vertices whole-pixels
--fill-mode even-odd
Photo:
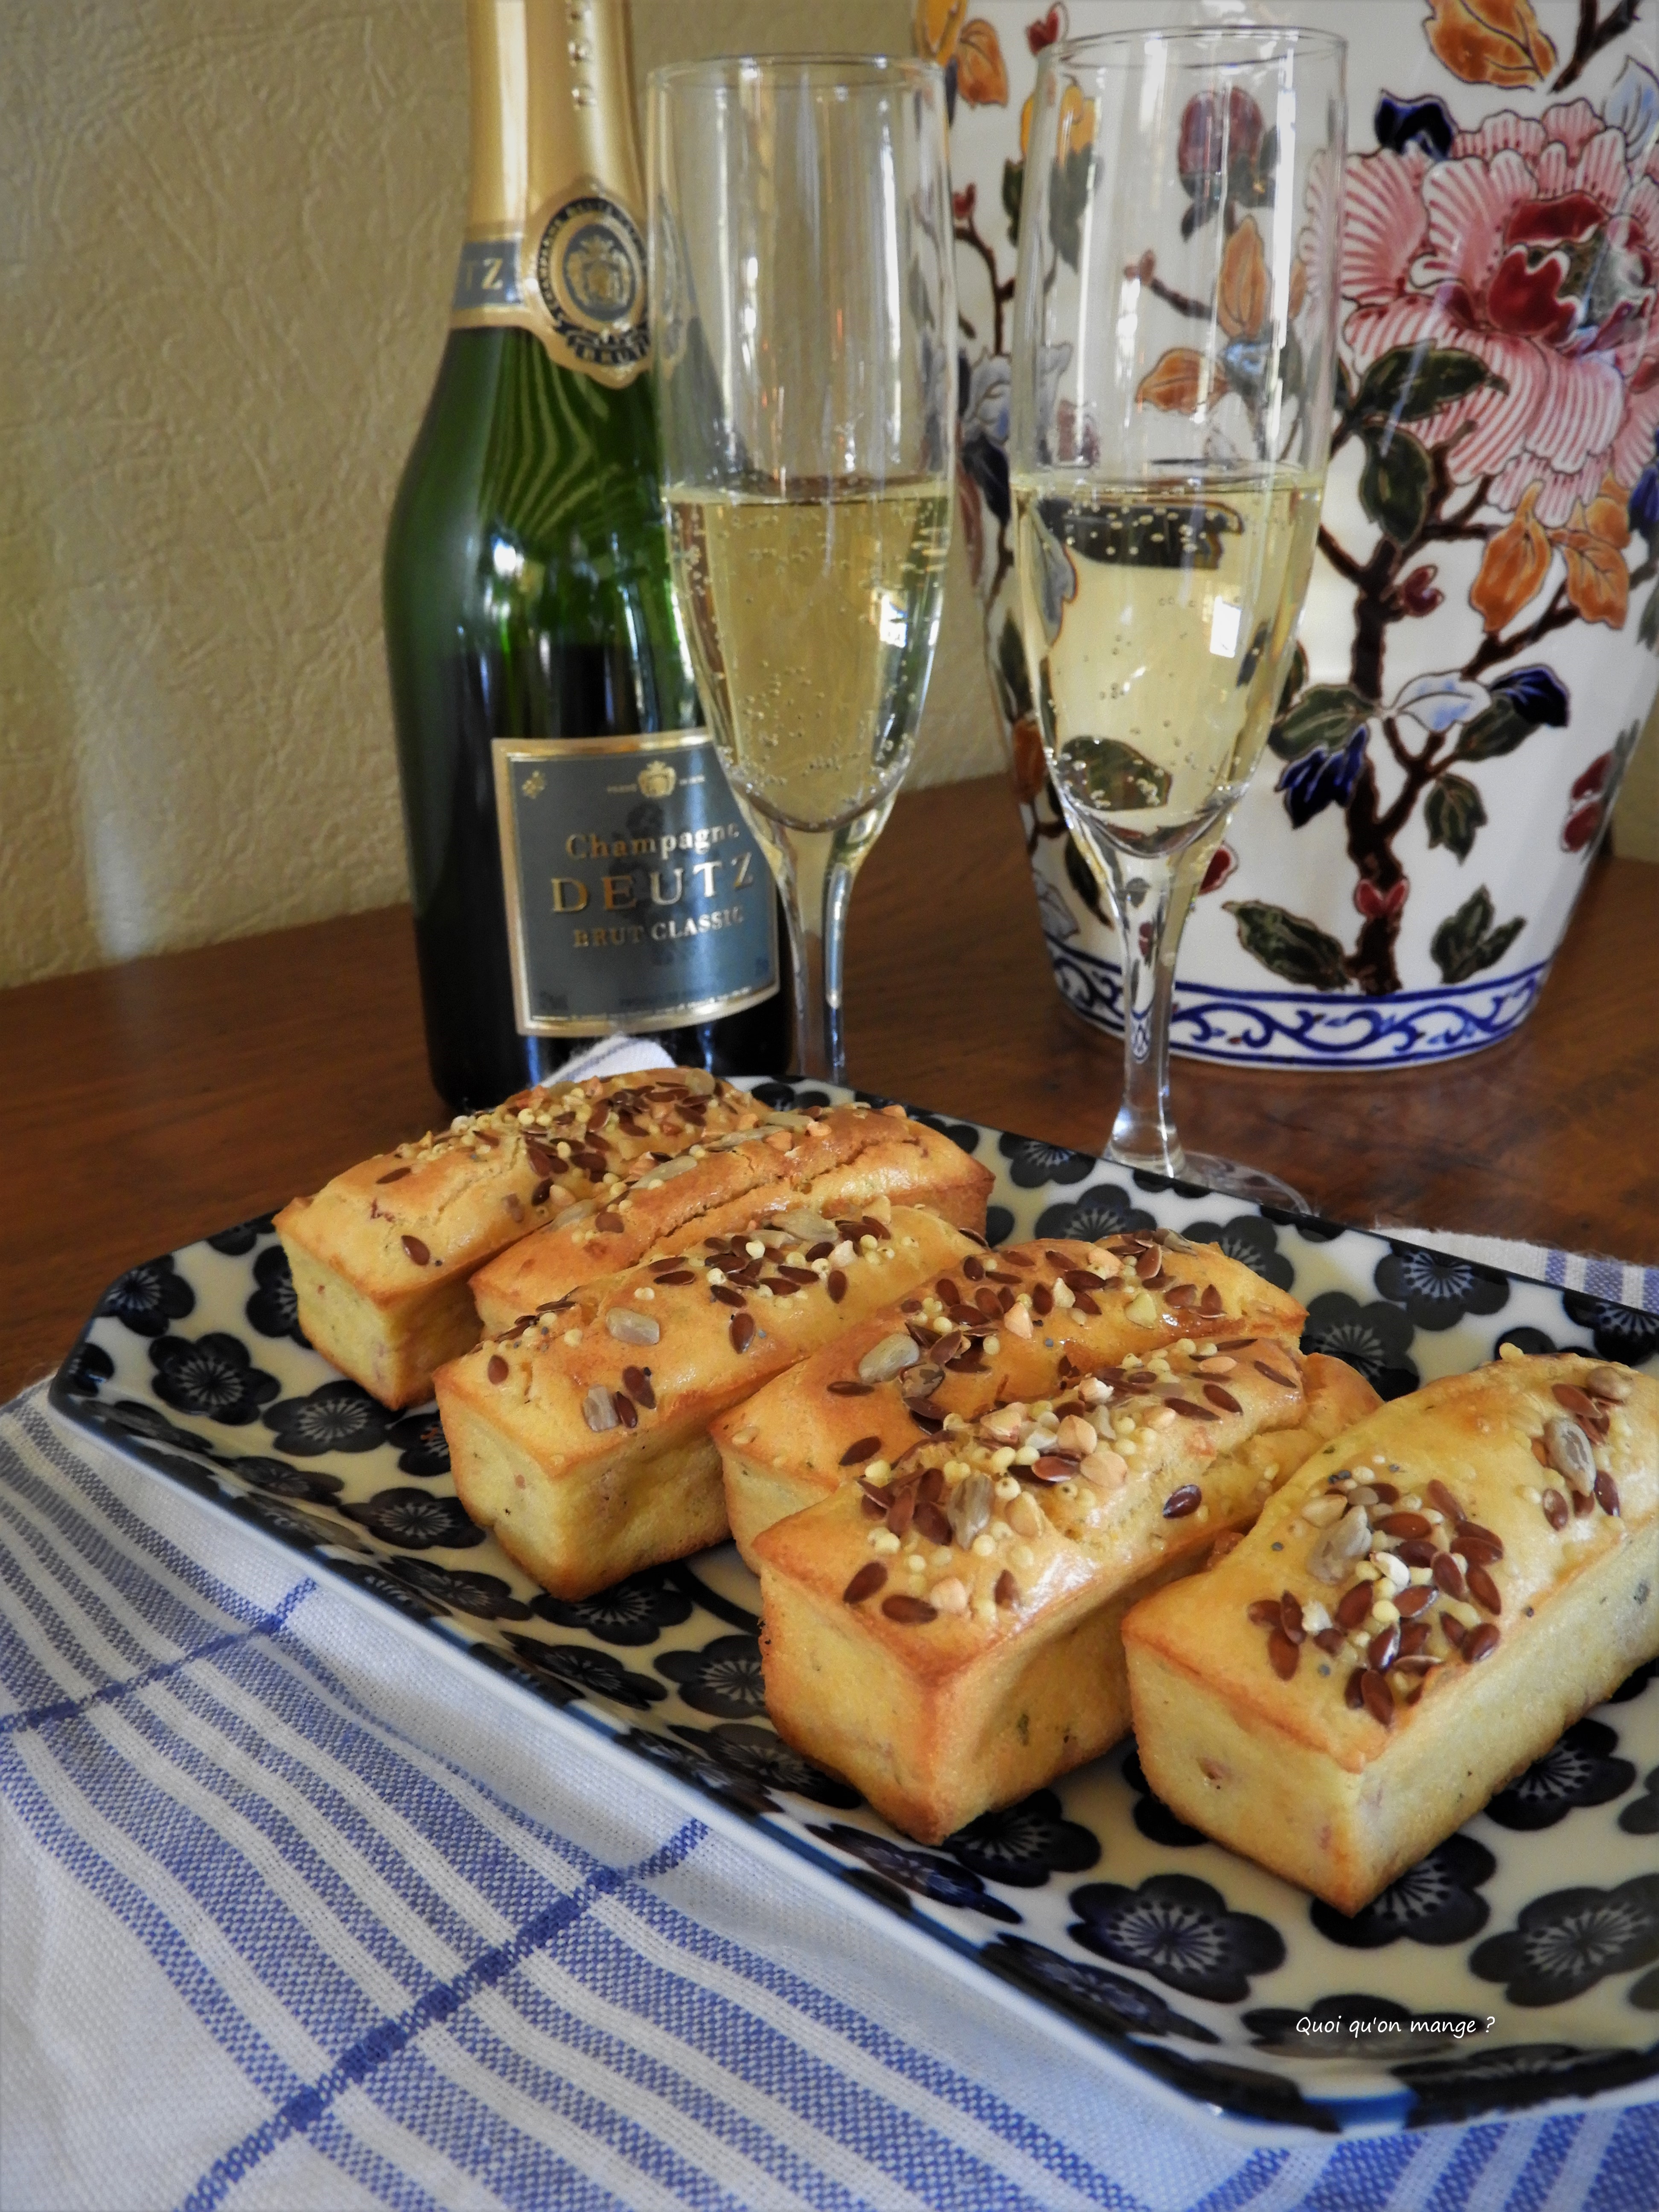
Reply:
[[[635,0],[641,69],[907,0]],[[378,562],[462,0],[0,0],[0,984],[403,894]],[[920,770],[998,759],[964,580]]]

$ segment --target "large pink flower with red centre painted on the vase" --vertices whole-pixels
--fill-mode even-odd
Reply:
[[[1360,374],[1389,347],[1473,354],[1502,378],[1420,436],[1453,482],[1562,529],[1608,476],[1635,484],[1659,429],[1659,148],[1588,100],[1491,115],[1447,159],[1347,164],[1343,338]]]

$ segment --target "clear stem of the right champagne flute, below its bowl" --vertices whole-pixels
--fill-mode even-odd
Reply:
[[[1106,1155],[1128,1168],[1179,1175],[1186,1168],[1170,1113],[1170,1004],[1175,953],[1197,885],[1183,854],[1102,852],[1106,889],[1124,947],[1124,1104]]]

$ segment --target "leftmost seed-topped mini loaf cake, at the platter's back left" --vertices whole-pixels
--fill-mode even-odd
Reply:
[[[478,1343],[469,1276],[544,1221],[622,1197],[628,1170],[708,1137],[783,1126],[701,1068],[522,1091],[347,1168],[276,1214],[299,1325],[380,1405],[416,1405]]]

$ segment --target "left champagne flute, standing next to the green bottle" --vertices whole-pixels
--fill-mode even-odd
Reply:
[[[916,745],[949,549],[945,80],[785,55],[650,80],[675,597],[783,891],[794,1071],[843,1079],[847,900]]]

